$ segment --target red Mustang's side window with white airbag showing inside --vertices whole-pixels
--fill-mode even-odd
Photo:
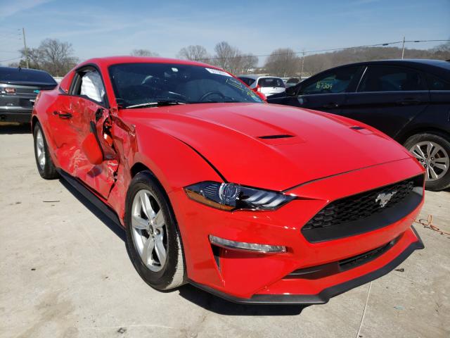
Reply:
[[[87,99],[105,103],[105,87],[101,80],[101,75],[95,69],[82,70],[75,79],[75,85],[72,89],[73,95],[84,96]]]

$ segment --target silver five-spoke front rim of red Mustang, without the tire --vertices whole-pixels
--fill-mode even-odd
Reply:
[[[167,260],[167,227],[158,199],[146,189],[134,196],[131,227],[141,260],[153,272],[160,271]]]

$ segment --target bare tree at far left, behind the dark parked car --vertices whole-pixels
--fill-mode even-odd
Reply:
[[[22,58],[18,65],[25,67],[25,49],[20,50]],[[73,56],[72,44],[58,39],[44,39],[39,47],[28,49],[30,68],[45,70],[53,76],[63,76],[78,63]]]

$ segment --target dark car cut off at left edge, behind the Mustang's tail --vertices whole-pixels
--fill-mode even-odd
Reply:
[[[55,87],[56,81],[43,70],[0,67],[0,120],[30,123],[37,94]]]

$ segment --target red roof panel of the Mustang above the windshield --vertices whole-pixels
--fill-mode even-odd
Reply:
[[[202,63],[198,61],[179,60],[176,58],[153,58],[153,57],[150,58],[144,56],[108,56],[105,58],[90,58],[89,60],[80,63],[77,67],[89,63],[96,63],[98,65],[104,65],[106,67],[121,63],[178,63],[182,65],[200,65],[202,67],[217,68],[215,66],[208,65],[207,63]]]

